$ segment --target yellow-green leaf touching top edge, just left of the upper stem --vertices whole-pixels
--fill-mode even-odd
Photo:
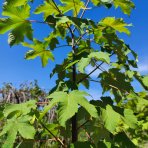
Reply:
[[[60,9],[61,7],[58,6],[58,8]],[[45,1],[43,5],[40,5],[39,7],[37,7],[34,13],[35,14],[44,13],[44,20],[46,20],[46,18],[49,15],[58,15],[59,11],[55,6],[55,4],[52,2],[52,0],[48,0],[48,1]]]

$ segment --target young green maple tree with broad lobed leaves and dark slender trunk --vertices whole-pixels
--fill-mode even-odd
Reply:
[[[16,145],[17,136],[22,137],[18,144],[21,147],[25,145],[24,139],[35,139],[38,135],[47,140],[42,146],[46,143],[52,147],[139,146],[144,142],[139,133],[148,138],[145,117],[148,76],[132,70],[137,68],[137,54],[118,36],[118,33],[130,35],[131,24],[122,18],[106,17],[96,22],[83,17],[87,10],[100,6],[121,8],[124,14],[130,15],[134,3],[131,0],[44,0],[32,12],[34,3],[33,0],[5,0],[0,34],[9,32],[10,46],[27,47],[30,50],[25,58],[40,57],[43,67],[49,60],[55,60],[56,48],[66,46],[71,51],[50,74],[51,78],[54,75],[58,78],[47,96],[51,102],[43,111],[37,109],[36,101],[1,107],[1,120],[5,124],[0,136],[6,137],[2,147]],[[31,19],[32,15],[39,14],[43,14],[43,21]],[[42,41],[34,38],[32,23],[48,25],[49,35]],[[108,70],[103,68],[104,63]],[[88,65],[94,67],[90,73],[86,72]],[[91,74],[97,69],[101,73],[92,79]],[[101,84],[102,92],[108,92],[109,96],[88,101],[89,94],[80,90],[80,86],[89,89],[92,81]],[[136,92],[133,81],[138,81],[144,90]],[[44,117],[54,106],[58,119],[49,123]],[[49,142],[48,138],[54,140]]]

